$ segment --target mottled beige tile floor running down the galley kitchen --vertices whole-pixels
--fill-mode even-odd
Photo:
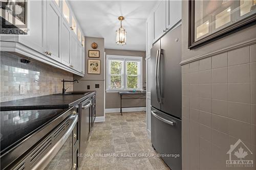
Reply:
[[[169,169],[151,147],[145,120],[145,112],[106,113],[105,122],[95,123],[79,169]]]

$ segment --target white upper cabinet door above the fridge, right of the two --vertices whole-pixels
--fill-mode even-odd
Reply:
[[[166,1],[166,28],[172,28],[181,20],[181,1]]]

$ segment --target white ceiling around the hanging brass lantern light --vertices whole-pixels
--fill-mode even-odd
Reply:
[[[104,38],[105,48],[145,51],[146,18],[156,1],[70,1],[85,36]],[[118,16],[124,16],[126,45],[117,45]]]

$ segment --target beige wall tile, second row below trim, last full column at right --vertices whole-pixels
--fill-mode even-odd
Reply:
[[[250,64],[241,64],[228,67],[229,83],[248,83],[250,82]]]

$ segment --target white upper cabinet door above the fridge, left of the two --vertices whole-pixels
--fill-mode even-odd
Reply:
[[[154,40],[157,40],[166,29],[165,26],[165,1],[161,1],[154,11]]]

